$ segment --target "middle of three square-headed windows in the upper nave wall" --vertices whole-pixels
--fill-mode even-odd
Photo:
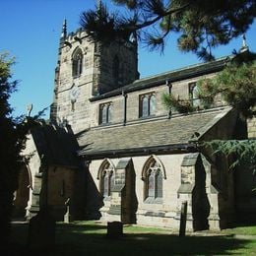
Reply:
[[[148,94],[140,96],[140,117],[155,115],[156,113],[156,95]]]

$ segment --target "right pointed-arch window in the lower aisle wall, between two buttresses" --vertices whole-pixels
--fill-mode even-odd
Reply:
[[[144,165],[144,199],[146,203],[158,202],[162,199],[162,180],[164,169],[159,160],[151,157]]]

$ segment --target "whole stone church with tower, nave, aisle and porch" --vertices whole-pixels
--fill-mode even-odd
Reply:
[[[140,79],[134,37],[106,45],[83,30],[68,34],[64,23],[50,122],[28,135],[15,213],[30,218],[47,205],[63,220],[69,201],[75,220],[178,228],[186,201],[192,230],[255,214],[255,176],[244,170],[241,179],[230,158],[199,147],[247,136],[222,100],[201,109],[196,99],[197,82],[232,58]],[[163,94],[190,98],[198,111],[171,111]]]

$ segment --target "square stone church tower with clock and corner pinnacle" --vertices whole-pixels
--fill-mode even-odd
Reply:
[[[75,133],[95,126],[90,99],[138,78],[136,40],[102,44],[82,29],[67,34],[64,21],[50,119],[70,124]]]

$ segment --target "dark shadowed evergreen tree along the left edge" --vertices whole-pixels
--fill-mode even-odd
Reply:
[[[0,244],[5,245],[10,234],[13,196],[18,186],[18,174],[22,164],[20,155],[26,141],[29,122],[24,117],[14,118],[9,103],[17,90],[17,81],[11,81],[14,59],[0,54]]]

